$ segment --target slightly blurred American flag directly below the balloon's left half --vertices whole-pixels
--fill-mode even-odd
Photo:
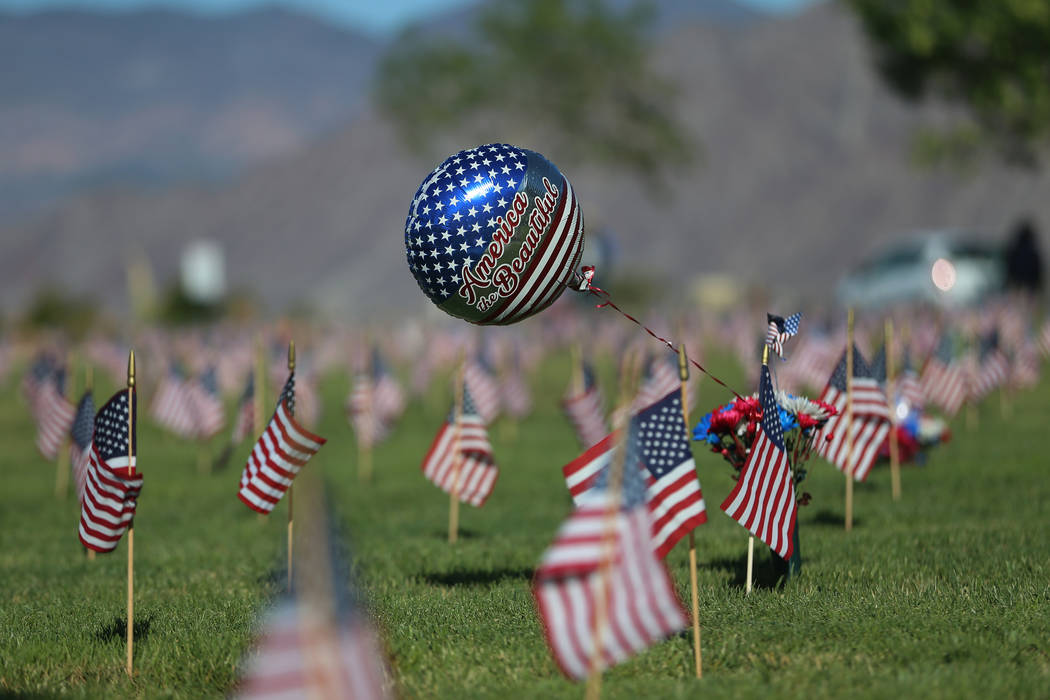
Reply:
[[[445,493],[452,493],[455,485],[459,500],[471,506],[484,505],[492,492],[500,469],[469,386],[463,387],[459,421],[454,407],[426,452],[422,470]]]

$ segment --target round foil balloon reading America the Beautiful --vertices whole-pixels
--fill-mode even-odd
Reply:
[[[408,209],[404,247],[430,301],[471,323],[502,325],[562,294],[583,255],[584,217],[550,161],[489,144],[426,176]]]

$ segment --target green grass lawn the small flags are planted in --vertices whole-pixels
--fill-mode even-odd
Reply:
[[[714,364],[733,376],[722,358]],[[553,360],[533,381],[537,410],[490,432],[500,481],[482,509],[464,507],[446,538],[448,500],[419,464],[447,410],[445,382],[414,404],[359,484],[341,406],[346,379],[323,386],[323,472],[363,596],[385,637],[397,690],[410,698],[578,698],[559,673],[530,595],[532,571],[569,512],[560,467],[576,447],[555,406],[568,375]],[[741,385],[739,376],[736,385]],[[98,399],[110,387],[100,387]],[[710,522],[697,530],[702,680],[688,634],[609,671],[609,698],[1047,697],[1050,695],[1050,380],[962,416],[953,440],[856,492],[842,527],[843,478],[810,465],[800,510],[803,572],[743,591],[747,533],[718,510],[729,467],[695,451]],[[724,400],[700,386],[699,406]],[[75,499],[54,496],[55,466],[34,447],[17,376],[0,390],[0,696],[219,697],[235,682],[256,615],[284,584],[285,505],[262,519],[236,499],[248,445],[222,472],[200,474],[197,448],[139,423],[145,487],[135,519],[135,676],[124,673],[125,547],[89,561]],[[759,551],[764,548],[758,548]],[[668,563],[682,600],[684,545]],[[765,584],[763,586],[763,584]]]

